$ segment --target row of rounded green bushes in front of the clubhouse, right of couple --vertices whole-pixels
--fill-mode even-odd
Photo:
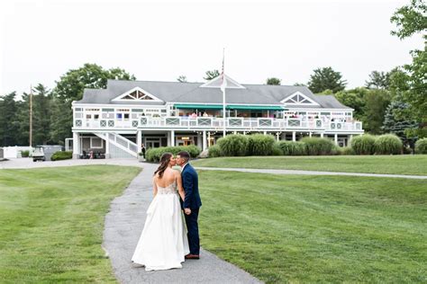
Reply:
[[[427,153],[427,139],[417,142],[417,152]],[[402,154],[400,138],[392,134],[379,137],[365,134],[351,139],[351,146],[336,146],[329,138],[303,138],[276,142],[269,135],[229,135],[209,148],[209,157],[241,155],[390,155]]]

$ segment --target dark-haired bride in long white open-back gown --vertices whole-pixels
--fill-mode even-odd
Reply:
[[[154,199],[147,210],[147,219],[132,262],[145,265],[146,271],[182,268],[189,253],[184,215],[179,198],[185,199],[181,174],[172,169],[176,160],[170,153],[160,158],[154,172]]]

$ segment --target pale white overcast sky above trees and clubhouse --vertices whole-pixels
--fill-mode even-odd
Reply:
[[[96,63],[138,80],[203,82],[221,69],[241,84],[306,84],[331,66],[361,86],[373,70],[411,62],[421,37],[398,40],[389,19],[407,1],[8,1],[0,7],[0,94],[55,85]]]

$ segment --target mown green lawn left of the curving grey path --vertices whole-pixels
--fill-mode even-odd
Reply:
[[[140,169],[0,170],[0,282],[116,283],[104,216]]]

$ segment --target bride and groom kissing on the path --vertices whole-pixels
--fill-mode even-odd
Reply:
[[[186,151],[177,157],[165,153],[154,172],[154,199],[132,256],[132,262],[144,265],[146,271],[182,268],[185,259],[199,259],[197,217],[202,201],[189,159]],[[181,166],[181,173],[174,165]]]

